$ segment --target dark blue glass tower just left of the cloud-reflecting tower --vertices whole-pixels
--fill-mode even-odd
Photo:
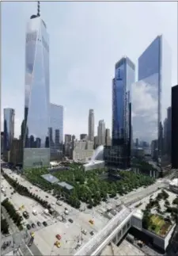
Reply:
[[[134,70],[134,63],[124,57],[116,63],[112,80],[112,151],[119,159],[116,165],[120,169],[131,166],[131,84],[134,82]]]

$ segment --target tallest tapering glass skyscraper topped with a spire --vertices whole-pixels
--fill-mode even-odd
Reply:
[[[24,168],[49,165],[49,117],[49,38],[38,2],[26,29]]]

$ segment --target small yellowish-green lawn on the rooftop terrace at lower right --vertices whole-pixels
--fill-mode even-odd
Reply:
[[[169,221],[165,221],[162,216],[152,215],[150,216],[150,226],[148,229],[157,235],[165,236],[171,225],[172,224]]]

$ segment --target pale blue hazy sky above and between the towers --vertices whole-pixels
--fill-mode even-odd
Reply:
[[[25,29],[36,2],[2,2],[3,109],[15,109],[20,135],[25,105]],[[112,128],[115,63],[132,62],[159,34],[172,50],[177,84],[177,2],[41,2],[50,36],[50,100],[64,106],[64,134],[88,133],[89,109]]]

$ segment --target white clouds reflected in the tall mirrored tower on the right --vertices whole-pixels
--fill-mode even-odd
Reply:
[[[133,138],[151,142],[157,139],[158,97],[157,90],[146,82],[132,85],[132,128]]]

